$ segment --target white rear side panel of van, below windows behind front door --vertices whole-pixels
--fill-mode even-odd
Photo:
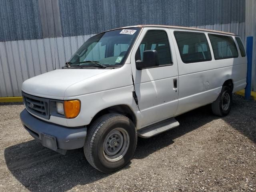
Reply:
[[[176,115],[214,102],[228,79],[233,81],[233,92],[243,89],[246,79],[241,79],[241,74],[246,74],[246,64],[179,76],[180,95]],[[184,87],[186,90],[183,90]]]

